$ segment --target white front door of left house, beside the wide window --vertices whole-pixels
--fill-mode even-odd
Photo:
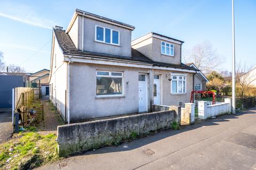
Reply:
[[[148,111],[147,91],[147,75],[139,74],[139,112]]]

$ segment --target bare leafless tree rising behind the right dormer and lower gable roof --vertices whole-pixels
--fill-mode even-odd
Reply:
[[[212,45],[205,41],[204,43],[197,44],[183,54],[185,63],[194,63],[199,70],[204,73],[209,73],[212,70],[218,70],[223,57],[221,57]]]

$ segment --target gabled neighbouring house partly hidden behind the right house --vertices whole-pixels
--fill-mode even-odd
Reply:
[[[187,63],[186,65],[199,70],[194,63]],[[206,76],[201,71],[197,71],[197,73],[194,75],[194,90],[206,90],[207,82],[209,82],[209,80],[206,78]]]

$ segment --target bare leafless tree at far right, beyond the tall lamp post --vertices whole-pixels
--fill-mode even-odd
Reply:
[[[253,65],[247,65],[246,63],[236,63],[236,84],[239,88],[238,95],[242,98],[245,97],[246,90],[249,90],[252,83],[256,80],[255,73],[253,71]]]

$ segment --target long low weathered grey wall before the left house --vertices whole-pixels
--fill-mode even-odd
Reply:
[[[118,144],[135,136],[171,128],[176,111],[161,111],[58,126],[58,153],[78,152]]]

